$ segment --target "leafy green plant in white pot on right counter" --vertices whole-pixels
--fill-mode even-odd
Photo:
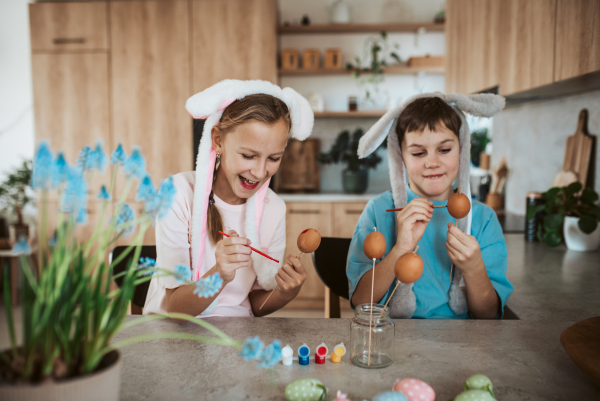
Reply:
[[[595,251],[600,245],[600,207],[598,193],[579,182],[566,187],[554,187],[542,194],[543,204],[531,206],[527,219],[542,212],[538,238],[548,246],[557,246],[564,237],[573,251]]]

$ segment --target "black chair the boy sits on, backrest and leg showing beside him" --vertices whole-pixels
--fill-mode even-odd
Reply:
[[[329,290],[329,297],[327,297],[327,292],[325,297],[325,317],[339,318],[341,316],[340,297],[349,299],[346,259],[350,241],[350,238],[323,237],[321,245],[312,254],[315,270]],[[519,317],[508,305],[505,305],[502,319],[518,320]]]

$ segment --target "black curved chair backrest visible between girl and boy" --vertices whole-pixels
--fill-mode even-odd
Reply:
[[[313,252],[313,263],[317,274],[331,291],[348,299],[348,277],[346,259],[350,249],[350,238],[321,238],[321,245]]]

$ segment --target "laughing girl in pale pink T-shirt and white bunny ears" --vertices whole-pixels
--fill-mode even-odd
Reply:
[[[294,299],[306,279],[299,259],[279,266],[248,248],[282,260],[285,204],[269,189],[289,136],[304,140],[313,126],[306,99],[264,81],[222,81],[186,103],[206,118],[195,172],[173,177],[169,214],[156,224],[157,266],[184,265],[192,280],[219,273],[221,290],[210,298],[194,285],[155,275],[144,314],[263,316]],[[219,231],[230,235],[224,238]],[[262,309],[270,290],[279,285]]]

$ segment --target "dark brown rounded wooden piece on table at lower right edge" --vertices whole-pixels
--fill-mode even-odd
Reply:
[[[600,386],[600,316],[575,323],[560,335],[569,357]]]

